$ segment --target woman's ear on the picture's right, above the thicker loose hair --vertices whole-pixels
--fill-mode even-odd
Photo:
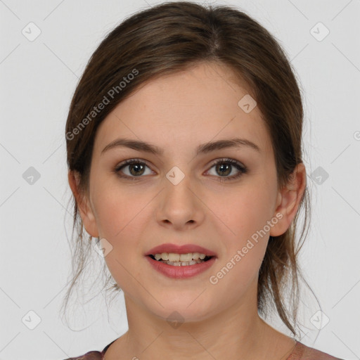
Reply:
[[[279,220],[271,227],[270,236],[281,236],[289,229],[291,221],[293,221],[300,205],[306,185],[306,169],[304,164],[300,162],[295,167],[293,174],[291,174],[288,184],[278,193],[274,217],[277,217]],[[279,213],[282,214],[282,217]],[[276,214],[278,215],[276,216]]]

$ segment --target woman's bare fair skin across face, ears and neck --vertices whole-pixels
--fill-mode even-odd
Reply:
[[[258,107],[245,113],[238,101],[251,94],[231,69],[200,63],[184,72],[141,86],[117,105],[98,128],[92,154],[89,189],[79,191],[77,174],[69,183],[86,231],[105,238],[113,249],[105,262],[124,291],[129,330],[106,352],[106,360],[286,359],[295,340],[278,332],[257,313],[257,278],[269,236],[290,226],[306,186],[303,164],[287,186],[278,189],[274,151]],[[233,119],[233,120],[232,120]],[[256,143],[195,156],[200,143],[233,136]],[[152,143],[164,149],[154,155],[130,148],[101,151],[119,137]],[[146,160],[144,172],[120,162]],[[248,167],[238,179],[212,166],[231,158]],[[179,167],[184,179],[166,174]],[[222,171],[222,172],[221,172]],[[140,171],[141,173],[141,171]],[[266,221],[282,214],[266,236],[216,285],[217,274]],[[193,278],[172,279],[155,271],[145,253],[162,243],[193,243],[217,253],[214,265]],[[172,328],[167,317],[178,311],[184,322]]]

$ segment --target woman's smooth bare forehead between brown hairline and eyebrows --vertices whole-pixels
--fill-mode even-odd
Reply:
[[[271,142],[259,108],[249,113],[241,107],[250,93],[229,67],[214,63],[152,79],[103,120],[95,148],[101,151],[120,136],[174,151],[184,144],[195,148],[198,143],[238,136],[269,150]]]

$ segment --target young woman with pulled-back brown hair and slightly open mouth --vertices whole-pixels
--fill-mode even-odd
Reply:
[[[302,121],[281,47],[235,8],[160,4],[108,34],[70,105],[69,184],[129,330],[72,359],[336,359],[259,316],[274,302],[297,335]]]

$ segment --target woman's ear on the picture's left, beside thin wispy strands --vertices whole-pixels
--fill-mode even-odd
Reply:
[[[71,170],[69,170],[68,180],[72,194],[74,195],[77,202],[77,207],[79,209],[82,223],[84,224],[86,232],[94,238],[97,238],[98,228],[96,226],[94,212],[91,209],[90,200],[86,193],[84,193],[84,191],[82,191],[82,189],[79,187],[80,174],[78,172],[72,172]]]

